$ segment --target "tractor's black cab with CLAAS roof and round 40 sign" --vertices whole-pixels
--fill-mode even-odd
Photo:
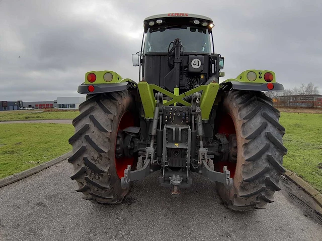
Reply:
[[[143,25],[141,51],[132,56],[133,66],[142,67],[140,80],[180,92],[206,84],[210,77],[218,82],[223,58],[214,53],[210,18],[171,13],[148,17]]]

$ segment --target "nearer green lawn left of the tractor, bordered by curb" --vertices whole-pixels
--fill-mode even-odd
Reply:
[[[68,151],[74,127],[66,124],[2,124],[0,178],[50,161]]]

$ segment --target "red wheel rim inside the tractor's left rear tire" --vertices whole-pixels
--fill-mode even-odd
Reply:
[[[133,126],[134,126],[133,115],[130,111],[126,111],[121,117],[121,121],[117,128],[117,131],[124,130],[127,127],[133,127]],[[116,149],[116,138],[115,138],[115,149]],[[126,169],[128,165],[130,165],[133,170],[133,164],[134,164],[134,157],[122,157],[122,158],[115,157],[115,168],[116,168],[117,175],[119,176],[120,179],[124,177],[124,169]]]

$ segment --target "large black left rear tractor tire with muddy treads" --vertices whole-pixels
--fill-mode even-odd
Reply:
[[[130,188],[121,188],[121,177],[127,165],[136,167],[131,158],[115,156],[118,130],[133,126],[134,100],[128,91],[87,96],[79,105],[80,114],[73,119],[75,134],[69,139],[73,165],[70,177],[78,184],[77,192],[94,203],[122,202]],[[122,127],[121,127],[122,126]]]

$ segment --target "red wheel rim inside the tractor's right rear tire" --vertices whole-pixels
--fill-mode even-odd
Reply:
[[[233,124],[230,114],[225,113],[219,122],[218,134],[236,134],[235,125]],[[230,177],[233,178],[236,170],[236,163],[229,161],[226,162],[216,162],[215,169],[217,172],[223,172],[223,167],[226,166],[230,171]]]

